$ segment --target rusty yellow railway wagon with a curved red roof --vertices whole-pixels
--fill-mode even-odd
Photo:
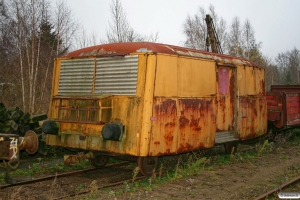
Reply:
[[[267,132],[264,69],[242,58],[104,44],[56,59],[52,87],[46,143],[84,150],[98,167],[133,156],[149,175],[159,156],[217,144],[231,152]]]

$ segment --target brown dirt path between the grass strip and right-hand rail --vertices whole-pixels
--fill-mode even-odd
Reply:
[[[208,168],[199,176],[116,199],[254,199],[297,175],[300,175],[300,148],[291,146],[245,162]]]

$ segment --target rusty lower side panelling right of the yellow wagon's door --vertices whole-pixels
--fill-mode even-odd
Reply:
[[[240,97],[237,131],[241,140],[263,135],[267,131],[267,106],[264,96]]]

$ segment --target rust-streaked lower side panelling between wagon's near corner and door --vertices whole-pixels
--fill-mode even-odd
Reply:
[[[213,98],[155,98],[149,155],[165,155],[214,145]]]

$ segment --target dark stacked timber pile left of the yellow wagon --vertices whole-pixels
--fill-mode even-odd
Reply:
[[[39,121],[45,119],[47,119],[46,114],[31,116],[19,107],[5,108],[0,102],[0,133],[24,136],[28,130],[33,130],[36,134],[41,134],[42,128]]]

